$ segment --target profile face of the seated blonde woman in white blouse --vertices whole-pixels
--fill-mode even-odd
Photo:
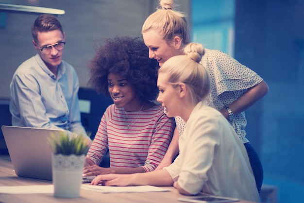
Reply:
[[[181,100],[178,94],[178,88],[168,83],[168,73],[159,73],[157,78],[157,87],[159,95],[157,101],[165,108],[168,117],[180,116]]]

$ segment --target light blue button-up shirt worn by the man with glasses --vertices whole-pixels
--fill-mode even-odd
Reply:
[[[23,62],[11,85],[10,112],[13,126],[61,128],[87,136],[81,124],[79,82],[74,68],[62,61],[57,77],[39,54]]]

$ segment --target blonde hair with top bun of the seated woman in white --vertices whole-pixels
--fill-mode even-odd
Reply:
[[[184,83],[190,90],[194,104],[203,101],[210,91],[209,75],[203,65],[200,64],[204,49],[198,43],[189,43],[184,49],[185,55],[177,55],[169,58],[161,68],[160,73],[168,73],[168,83],[175,86]]]

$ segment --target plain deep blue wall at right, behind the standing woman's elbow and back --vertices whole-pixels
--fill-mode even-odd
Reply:
[[[246,111],[247,137],[281,203],[303,200],[296,194],[304,191],[303,11],[303,0],[236,0],[235,58],[270,88]]]

